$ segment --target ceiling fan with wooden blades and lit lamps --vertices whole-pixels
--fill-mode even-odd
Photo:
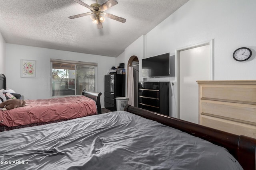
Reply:
[[[78,4],[85,6],[86,8],[89,8],[91,10],[91,12],[86,12],[83,14],[78,14],[78,15],[74,15],[74,16],[70,16],[68,18],[70,19],[75,19],[75,18],[79,18],[82,16],[88,16],[90,15],[90,18],[92,19],[93,23],[97,24],[98,29],[102,29],[102,22],[105,21],[104,17],[108,17],[111,18],[112,20],[116,20],[122,23],[125,23],[126,19],[115,16],[113,14],[109,14],[109,13],[105,13],[104,11],[107,10],[108,8],[118,4],[118,2],[116,0],[108,0],[107,2],[103,3],[103,4],[98,4],[98,0],[96,0],[96,4],[91,4],[88,5],[80,0],[73,0],[74,2],[77,2]]]

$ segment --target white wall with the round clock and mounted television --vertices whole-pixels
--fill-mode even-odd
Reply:
[[[140,60],[176,49],[214,41],[214,80],[256,79],[256,0],[190,0],[149,33],[125,50],[124,62],[138,53]],[[139,47],[139,48],[138,48]],[[142,49],[144,47],[144,53]],[[245,62],[235,61],[232,54],[239,47],[252,49]],[[141,71],[140,66],[140,71]],[[140,77],[140,81],[143,79]],[[176,78],[150,81],[176,83]],[[176,86],[173,86],[172,113],[176,112]]]

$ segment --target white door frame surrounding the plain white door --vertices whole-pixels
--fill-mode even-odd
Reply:
[[[209,53],[210,53],[210,80],[213,80],[213,39],[209,41],[205,41],[203,43],[198,43],[195,45],[190,45],[187,47],[182,47],[179,49],[175,50],[175,65],[176,65],[176,93],[177,93],[177,98],[176,98],[176,118],[180,119],[180,51],[188,50],[188,49],[193,49],[197,47],[202,47],[204,45],[210,45]]]

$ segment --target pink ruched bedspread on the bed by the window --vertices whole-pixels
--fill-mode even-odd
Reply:
[[[24,107],[0,110],[0,126],[19,126],[97,114],[94,100],[85,96],[26,100]]]

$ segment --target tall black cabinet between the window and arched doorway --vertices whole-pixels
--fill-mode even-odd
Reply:
[[[105,108],[116,111],[117,97],[125,96],[125,74],[107,74],[105,75]]]

